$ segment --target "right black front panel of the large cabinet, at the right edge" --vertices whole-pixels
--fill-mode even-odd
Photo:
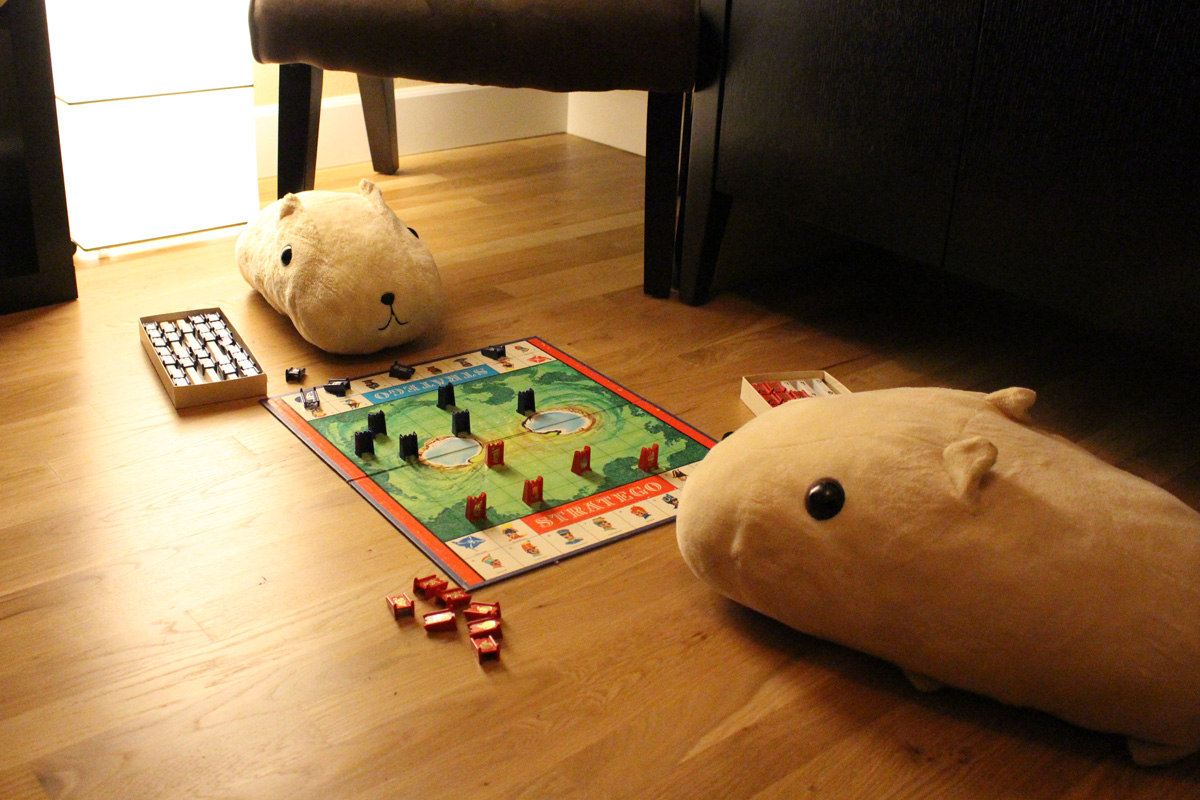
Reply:
[[[944,265],[1105,325],[1194,327],[1194,2],[989,2]]]

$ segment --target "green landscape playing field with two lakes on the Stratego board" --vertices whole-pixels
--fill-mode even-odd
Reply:
[[[533,389],[538,414],[516,411],[517,392]],[[529,513],[522,501],[527,479],[544,479],[544,501],[562,505],[644,477],[637,468],[641,449],[659,444],[659,470],[703,458],[707,447],[571,367],[553,361],[520,372],[488,375],[455,385],[455,407],[470,411],[469,437],[450,435],[450,411],[439,409],[437,392],[403,397],[311,425],[372,481],[403,505],[442,541]],[[388,435],[376,441],[374,456],[354,455],[354,432],[366,415],[383,410]],[[532,425],[530,425],[532,423]],[[569,429],[580,426],[581,429]],[[563,432],[566,428],[566,432]],[[440,443],[445,462],[462,465],[406,463],[398,437],[415,432],[422,447]],[[485,464],[484,443],[504,440],[505,465]],[[592,470],[571,471],[572,455],[589,446]],[[428,450],[426,450],[428,452]],[[468,495],[487,493],[487,522],[467,519]]]

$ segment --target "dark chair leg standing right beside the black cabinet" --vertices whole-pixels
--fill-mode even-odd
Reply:
[[[676,215],[679,201],[679,149],[683,94],[649,92],[646,104],[646,241],[642,285],[667,297],[674,284]]]

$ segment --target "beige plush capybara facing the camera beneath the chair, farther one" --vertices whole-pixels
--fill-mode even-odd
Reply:
[[[359,194],[283,196],[242,230],[236,258],[246,281],[322,350],[374,353],[442,318],[433,255],[366,179]]]

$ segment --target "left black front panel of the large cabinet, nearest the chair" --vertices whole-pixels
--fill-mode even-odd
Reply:
[[[716,190],[940,261],[982,0],[734,0]]]

